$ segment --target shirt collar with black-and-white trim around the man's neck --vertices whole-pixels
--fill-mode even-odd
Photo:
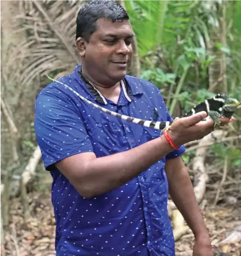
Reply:
[[[85,83],[89,92],[91,92],[92,96],[96,99],[96,101],[99,104],[107,105],[107,99],[105,99],[102,93],[100,93],[100,91],[98,91],[97,88],[94,87],[94,85],[83,76],[81,65],[79,65],[79,68],[77,68],[77,72],[81,80]],[[124,79],[121,80],[121,86],[124,96],[128,102],[132,101],[133,95],[143,93],[141,87],[132,85],[131,81],[129,81],[129,76],[125,76]]]

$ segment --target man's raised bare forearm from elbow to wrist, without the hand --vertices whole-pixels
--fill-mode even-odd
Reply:
[[[83,197],[93,197],[124,185],[172,150],[165,137],[159,137],[106,157],[96,158],[93,153],[86,153],[84,158],[74,155],[69,158],[75,158],[71,165],[69,159],[65,159],[57,167],[66,177],[75,172],[75,176],[68,177],[72,185]],[[86,164],[83,165],[84,161]]]

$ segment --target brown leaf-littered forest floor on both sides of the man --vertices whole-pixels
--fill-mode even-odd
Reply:
[[[10,202],[10,225],[1,249],[4,248],[5,256],[55,256],[51,192],[48,189],[31,192],[28,199],[29,215],[25,218],[20,198]],[[213,243],[225,239],[235,227],[241,227],[241,202],[235,207],[217,205],[215,208],[207,202],[202,212]],[[191,256],[193,244],[193,234],[184,235],[176,241],[176,256]],[[239,242],[224,244],[217,249],[231,256],[240,256],[241,238]]]

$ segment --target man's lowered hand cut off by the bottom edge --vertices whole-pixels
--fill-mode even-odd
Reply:
[[[213,249],[209,237],[199,237],[193,247],[193,256],[212,256]]]

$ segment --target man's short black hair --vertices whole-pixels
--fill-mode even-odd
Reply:
[[[93,0],[82,5],[76,19],[76,39],[83,37],[88,42],[89,37],[97,30],[97,20],[100,18],[117,20],[129,19],[125,9],[115,1]]]

